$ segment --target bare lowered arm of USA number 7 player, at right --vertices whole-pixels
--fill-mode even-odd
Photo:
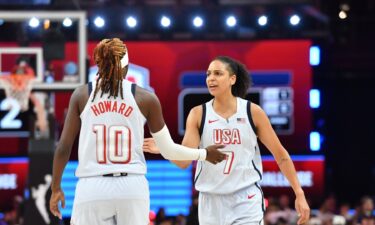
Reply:
[[[304,224],[310,217],[310,208],[298,181],[296,169],[289,153],[280,143],[266,113],[256,104],[252,103],[250,107],[259,140],[271,151],[281,172],[288,179],[296,195],[295,207],[299,216],[297,223]]]

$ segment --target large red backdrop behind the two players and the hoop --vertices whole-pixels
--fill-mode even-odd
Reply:
[[[180,90],[179,76],[184,71],[204,71],[217,55],[228,55],[243,62],[251,70],[282,70],[292,73],[291,87],[294,91],[294,133],[281,135],[282,143],[291,153],[306,153],[308,134],[311,131],[311,110],[308,104],[311,88],[311,67],[309,65],[310,41],[195,41],[195,42],[127,42],[130,62],[150,70],[151,87],[155,89],[164,107],[165,121],[176,141],[177,97]],[[38,45],[38,44],[34,44]],[[91,56],[96,42],[88,43]],[[0,43],[0,46],[14,46],[14,43]],[[67,43],[66,61],[77,61],[77,44]],[[13,65],[6,63],[6,67]],[[91,65],[94,65],[90,59]],[[54,62],[57,79],[61,79],[64,62]],[[56,118],[62,125],[71,92],[56,94]],[[168,107],[168,110],[166,110]],[[4,155],[24,155],[27,145],[19,139],[0,138],[0,152]],[[0,154],[1,154],[0,153]]]

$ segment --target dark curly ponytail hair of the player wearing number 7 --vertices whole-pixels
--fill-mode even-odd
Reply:
[[[237,79],[232,86],[232,94],[236,97],[245,98],[247,89],[252,84],[251,76],[249,76],[246,66],[228,56],[218,56],[213,61],[215,60],[227,64],[229,73],[236,75]]]

